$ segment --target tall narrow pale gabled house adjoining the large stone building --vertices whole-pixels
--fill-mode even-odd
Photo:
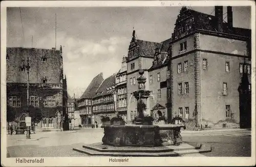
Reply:
[[[123,57],[121,68],[116,74],[116,112],[125,122],[127,120],[126,61],[127,57]]]

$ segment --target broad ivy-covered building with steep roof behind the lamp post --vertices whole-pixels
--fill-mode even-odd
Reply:
[[[29,58],[29,107],[27,65]],[[60,128],[67,116],[67,80],[63,78],[62,50],[8,47],[7,113],[15,113],[17,126],[25,126],[27,111],[32,119],[42,114],[37,128]],[[65,117],[65,123],[68,123]],[[65,124],[66,127],[67,124]],[[65,130],[68,127],[65,128]]]

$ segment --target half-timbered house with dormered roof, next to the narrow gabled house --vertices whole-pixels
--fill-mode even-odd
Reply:
[[[102,81],[99,89],[93,97],[93,123],[101,122],[101,117],[116,117],[116,89],[115,75],[112,75]]]

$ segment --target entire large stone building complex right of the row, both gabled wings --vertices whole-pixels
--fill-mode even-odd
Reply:
[[[139,69],[145,71],[147,114],[154,110],[192,119],[197,126],[232,120],[246,124],[250,110],[241,109],[242,76],[248,78],[250,92],[251,32],[233,27],[232,8],[215,7],[215,16],[183,7],[175,23],[172,38],[156,43],[135,38],[129,46],[127,63],[127,116],[137,116],[132,92],[138,89]],[[153,65],[152,65],[153,63]],[[150,112],[152,110],[152,113]],[[245,112],[245,113],[243,113]],[[242,113],[242,114],[241,114]]]

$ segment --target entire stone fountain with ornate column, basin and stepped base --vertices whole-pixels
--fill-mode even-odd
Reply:
[[[139,71],[138,90],[133,92],[137,99],[138,117],[135,124],[102,125],[104,136],[102,143],[83,146],[83,149],[73,148],[75,151],[89,155],[111,156],[178,156],[179,151],[192,150],[190,153],[208,152],[210,147],[202,148],[182,144],[180,129],[184,125],[164,124],[153,125],[146,116],[146,100],[150,91],[145,90],[146,78],[144,71]],[[201,150],[200,150],[201,149]],[[142,154],[143,153],[143,154]]]

